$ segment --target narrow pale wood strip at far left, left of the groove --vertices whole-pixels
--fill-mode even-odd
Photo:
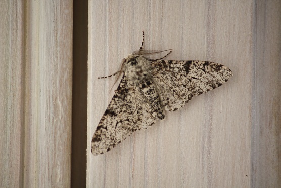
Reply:
[[[24,6],[22,1],[1,1],[0,9],[0,187],[19,187],[24,149]]]

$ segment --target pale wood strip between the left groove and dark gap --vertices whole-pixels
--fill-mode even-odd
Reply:
[[[70,186],[72,1],[26,5],[24,185]]]

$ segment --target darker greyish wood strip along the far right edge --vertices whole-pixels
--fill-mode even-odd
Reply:
[[[281,186],[281,2],[254,11],[252,187]]]

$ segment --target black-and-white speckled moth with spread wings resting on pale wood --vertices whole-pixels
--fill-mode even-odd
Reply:
[[[181,109],[232,77],[229,68],[213,62],[163,60],[172,50],[160,59],[149,59],[144,55],[162,51],[143,50],[143,45],[144,31],[139,50],[122,60],[118,72],[123,77],[92,138],[93,155],[110,151],[134,131],[163,120],[165,111]]]

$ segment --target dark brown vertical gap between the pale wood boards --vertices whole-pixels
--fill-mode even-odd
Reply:
[[[88,1],[73,0],[71,187],[86,187]]]

